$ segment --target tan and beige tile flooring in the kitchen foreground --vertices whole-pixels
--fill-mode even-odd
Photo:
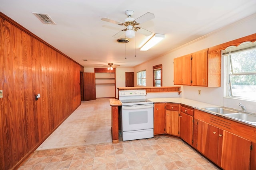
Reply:
[[[19,170],[219,170],[181,139],[158,135],[35,151]]]

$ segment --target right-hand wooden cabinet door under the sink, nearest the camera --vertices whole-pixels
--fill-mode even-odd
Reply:
[[[251,141],[227,131],[223,131],[220,138],[222,138],[221,167],[226,170],[249,170]]]

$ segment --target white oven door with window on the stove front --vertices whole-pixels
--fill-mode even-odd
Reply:
[[[154,104],[122,106],[122,131],[154,128]]]

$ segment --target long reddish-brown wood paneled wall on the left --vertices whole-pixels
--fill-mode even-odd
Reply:
[[[0,15],[0,169],[16,169],[80,104],[83,66]],[[41,98],[35,100],[40,93]]]

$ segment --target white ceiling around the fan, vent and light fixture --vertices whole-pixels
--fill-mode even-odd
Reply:
[[[134,11],[133,18],[153,13],[139,25],[153,34],[136,32],[136,39],[118,43],[112,36],[125,26],[101,18],[124,22],[126,10]],[[256,0],[0,0],[0,12],[85,67],[133,67],[255,14]],[[56,25],[43,24],[32,12],[48,14]],[[140,51],[154,33],[165,39]]]

